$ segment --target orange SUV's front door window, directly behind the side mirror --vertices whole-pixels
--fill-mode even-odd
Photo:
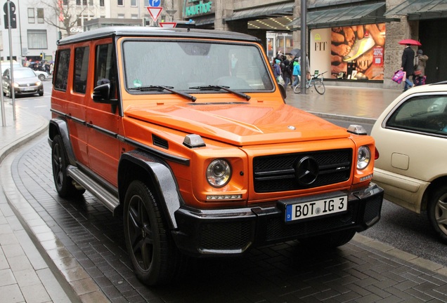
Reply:
[[[110,83],[110,97],[116,97],[115,51],[112,44],[96,46],[95,86]]]

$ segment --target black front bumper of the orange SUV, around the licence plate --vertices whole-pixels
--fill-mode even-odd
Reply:
[[[309,201],[309,196],[277,201],[276,206],[195,210],[180,208],[173,231],[176,245],[183,253],[196,256],[240,255],[247,249],[291,239],[309,238],[335,231],[364,231],[380,220],[383,189],[371,183],[359,191],[339,191],[348,196],[343,213],[285,223],[285,205]],[[328,194],[311,196],[318,200]]]

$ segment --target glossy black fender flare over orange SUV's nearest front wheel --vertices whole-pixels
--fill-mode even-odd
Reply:
[[[138,166],[139,172],[134,169],[135,166]],[[138,149],[122,154],[118,165],[119,201],[124,201],[129,183],[141,173],[143,175],[140,177],[150,180],[151,188],[156,191],[157,198],[161,200],[160,206],[162,206],[162,211],[166,215],[167,224],[171,229],[176,229],[177,223],[174,213],[184,204],[183,199],[179,194],[171,169],[164,161],[157,159],[155,156]]]

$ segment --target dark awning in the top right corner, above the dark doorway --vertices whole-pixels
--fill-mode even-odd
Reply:
[[[446,0],[407,0],[384,13],[407,15],[408,20],[427,20],[447,17]]]

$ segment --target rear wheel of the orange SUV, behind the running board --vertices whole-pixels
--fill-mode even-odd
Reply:
[[[68,159],[60,135],[56,135],[53,138],[53,144],[51,145],[51,166],[53,168],[54,185],[59,196],[69,198],[84,194],[85,189],[75,187],[72,178],[67,175]]]

